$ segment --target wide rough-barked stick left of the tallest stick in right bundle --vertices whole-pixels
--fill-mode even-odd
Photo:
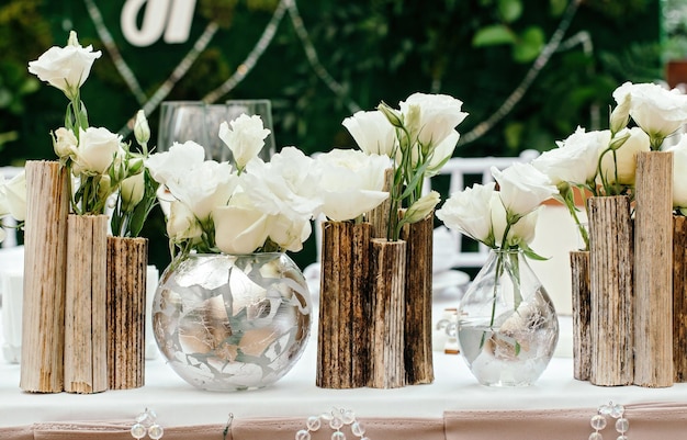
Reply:
[[[628,196],[590,198],[592,287],[589,382],[629,385],[634,380],[633,234]]]

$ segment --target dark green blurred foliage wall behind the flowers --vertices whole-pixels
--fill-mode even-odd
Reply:
[[[222,84],[246,59],[279,0],[198,0],[185,44],[128,44],[120,31],[122,1],[93,0],[122,57],[150,97],[169,77],[210,20],[219,30],[179,80],[168,100],[199,100]],[[278,147],[306,153],[353,146],[341,121],[381,100],[396,105],[415,91],[448,93],[464,102],[469,133],[518,88],[564,15],[565,0],[308,0],[299,1],[322,67],[340,86],[333,92],[308,59],[289,12],[255,68],[226,99],[272,100]],[[605,127],[611,91],[621,82],[662,78],[658,0],[586,0],[564,45],[542,68],[513,111],[457,155],[515,155],[539,150],[577,125]],[[92,125],[125,127],[140,104],[127,89],[97,33],[83,0],[5,0],[0,5],[0,165],[53,158],[49,131],[61,125],[66,99],[26,71],[50,45],[63,46],[70,29],[81,44],[103,50],[82,89]],[[564,38],[565,40],[565,38]],[[313,55],[313,54],[311,54]],[[320,72],[322,74],[322,72]],[[148,115],[156,137],[158,112]],[[1,146],[0,146],[1,148]],[[151,260],[165,266],[164,221],[157,213],[144,229]],[[313,244],[300,263],[314,258]]]

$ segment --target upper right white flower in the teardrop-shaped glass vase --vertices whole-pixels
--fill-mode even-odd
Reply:
[[[492,167],[499,196],[508,216],[523,216],[559,193],[555,185],[532,163],[515,162],[503,171]],[[513,223],[513,222],[511,222]]]

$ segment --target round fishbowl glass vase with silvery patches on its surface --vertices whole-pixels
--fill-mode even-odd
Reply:
[[[209,391],[268,386],[297,362],[311,331],[311,295],[284,253],[190,255],[162,273],[155,339],[169,365]]]

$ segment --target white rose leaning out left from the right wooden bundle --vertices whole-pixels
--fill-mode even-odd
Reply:
[[[558,148],[542,153],[532,165],[549,177],[551,183],[586,184],[594,182],[599,155],[610,143],[610,131],[587,132],[577,127]]]

